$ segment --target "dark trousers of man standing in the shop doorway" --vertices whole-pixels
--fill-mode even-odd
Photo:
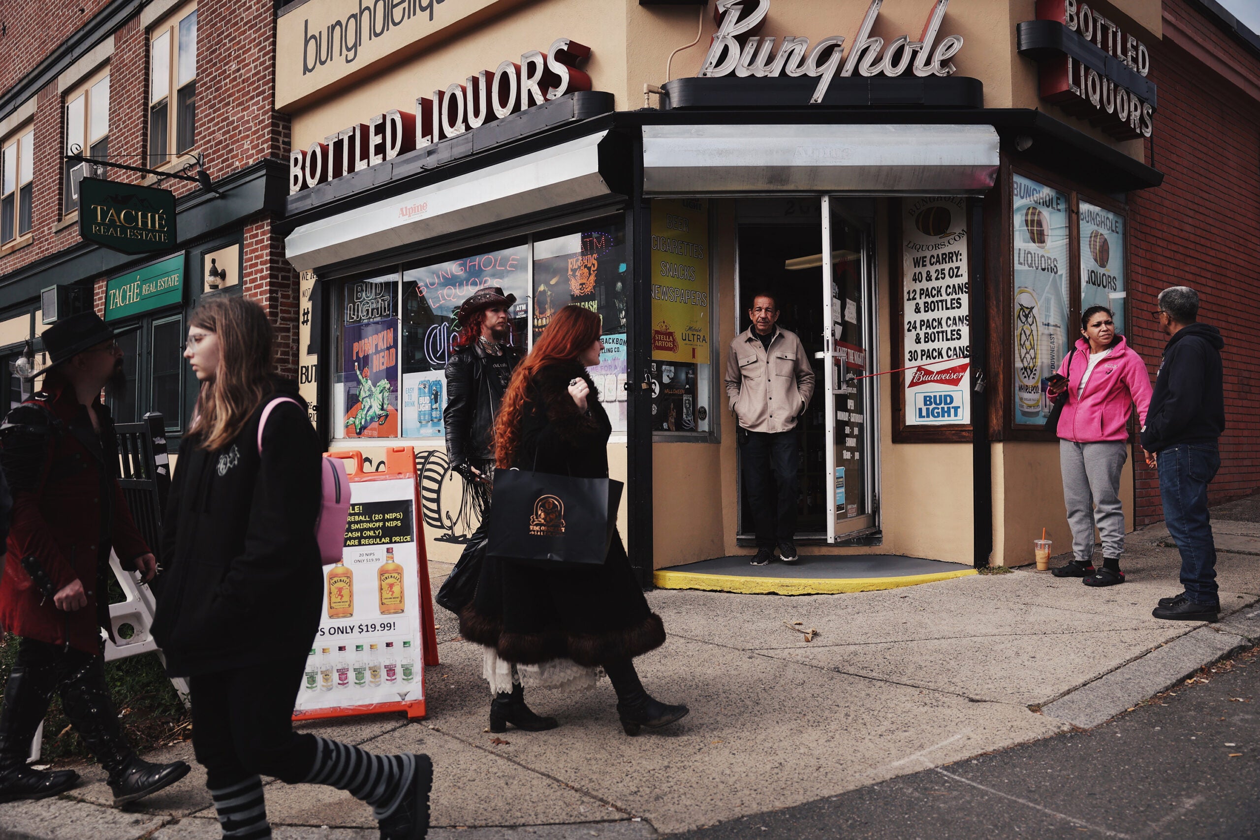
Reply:
[[[752,506],[757,548],[774,549],[796,535],[800,438],[789,432],[740,429],[743,487]]]

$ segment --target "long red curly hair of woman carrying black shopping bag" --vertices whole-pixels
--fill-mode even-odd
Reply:
[[[520,417],[529,402],[529,388],[538,372],[558,361],[573,361],[595,344],[601,334],[600,316],[588,309],[570,304],[552,316],[542,338],[534,343],[517,369],[503,394],[499,417],[494,423],[494,462],[500,470],[512,467],[520,443]]]

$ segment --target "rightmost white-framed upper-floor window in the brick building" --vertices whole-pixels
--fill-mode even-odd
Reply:
[[[155,26],[149,44],[149,165],[161,166],[197,142],[197,9]]]

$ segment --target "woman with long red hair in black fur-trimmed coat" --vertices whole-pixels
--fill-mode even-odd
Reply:
[[[498,468],[607,477],[612,426],[586,372],[602,349],[595,312],[570,305],[552,317],[503,397],[494,437]],[[494,691],[510,690],[517,679],[591,685],[593,669],[602,667],[627,735],[688,712],[653,699],[635,673],[633,657],[664,644],[665,627],[643,597],[620,534],[602,565],[552,570],[486,557],[460,632],[486,647],[485,676]],[[491,705],[490,730],[504,725]]]

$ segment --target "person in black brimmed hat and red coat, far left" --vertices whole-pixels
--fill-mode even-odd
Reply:
[[[26,764],[53,691],[108,773],[115,805],[144,798],[189,771],[181,761],[152,764],[136,756],[105,681],[110,553],[145,581],[158,565],[118,486],[118,442],[101,403],[107,384],[126,383],[117,335],[94,312],[48,327],[47,364],[18,365],[24,379],[43,377],[43,390],[0,427],[0,467],[14,495],[0,627],[19,637],[0,708],[0,802],[55,796],[78,780],[74,771]]]

